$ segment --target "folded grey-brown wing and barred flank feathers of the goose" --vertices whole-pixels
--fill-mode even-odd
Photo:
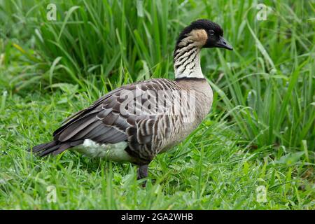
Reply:
[[[167,79],[153,79],[120,87],[79,111],[54,132],[54,140],[71,147],[91,139],[100,144],[127,141],[126,149],[139,164],[151,161],[157,153],[157,142],[167,139],[170,123],[160,111],[172,108],[172,97],[165,90],[178,90]],[[160,104],[159,94],[166,102]],[[148,106],[148,104],[150,106]],[[163,108],[164,107],[164,108]]]

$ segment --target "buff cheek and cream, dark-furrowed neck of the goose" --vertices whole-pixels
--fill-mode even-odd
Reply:
[[[207,41],[204,29],[194,29],[179,38],[174,50],[175,78],[204,78],[200,66],[200,50]]]

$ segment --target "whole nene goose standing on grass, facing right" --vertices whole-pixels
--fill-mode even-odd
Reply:
[[[32,151],[44,156],[71,148],[92,158],[132,162],[139,166],[137,178],[146,178],[155,155],[183,141],[211,109],[213,93],[200,67],[202,48],[232,50],[219,25],[192,22],[176,42],[175,80],[155,78],[118,87],[68,118],[53,141]]]

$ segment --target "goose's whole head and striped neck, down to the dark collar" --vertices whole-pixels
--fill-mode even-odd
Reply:
[[[204,78],[200,68],[202,48],[225,48],[232,45],[223,38],[223,29],[210,20],[196,20],[185,27],[174,50],[175,78]]]

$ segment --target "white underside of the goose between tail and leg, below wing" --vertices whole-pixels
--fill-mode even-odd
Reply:
[[[98,144],[91,139],[85,139],[83,144],[73,148],[91,158],[106,158],[115,162],[132,162],[132,157],[125,151],[127,142],[120,141],[116,144]]]

